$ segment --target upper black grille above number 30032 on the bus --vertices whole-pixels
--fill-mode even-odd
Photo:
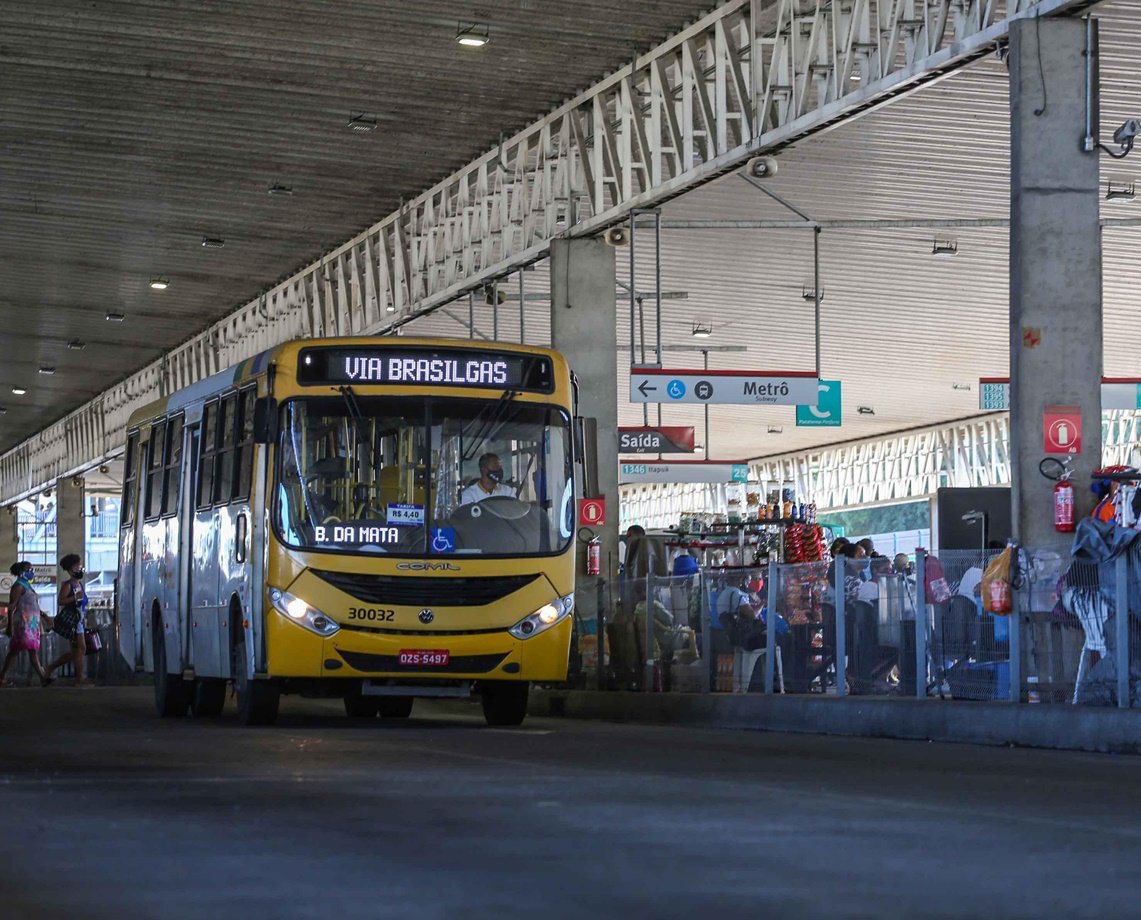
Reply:
[[[537,575],[489,578],[416,578],[407,575],[358,575],[353,572],[313,574],[347,595],[370,604],[422,607],[482,607],[494,604],[531,584]]]

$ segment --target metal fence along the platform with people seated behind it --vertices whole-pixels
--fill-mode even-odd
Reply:
[[[1075,559],[1068,543],[1019,548],[1009,615],[987,612],[981,596],[998,551],[919,551],[906,565],[876,557],[710,567],[613,591],[588,586],[578,685],[1141,703],[1141,540],[1108,560]]]

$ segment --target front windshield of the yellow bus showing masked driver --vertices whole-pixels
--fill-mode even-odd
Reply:
[[[541,556],[574,525],[570,423],[558,406],[361,396],[282,407],[274,523],[296,549]]]

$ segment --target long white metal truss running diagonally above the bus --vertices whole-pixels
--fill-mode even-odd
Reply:
[[[298,336],[390,331],[1091,0],[729,0],[0,458],[0,500],[105,458],[131,409]]]

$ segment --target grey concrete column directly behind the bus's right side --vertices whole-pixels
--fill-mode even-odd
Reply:
[[[582,415],[598,420],[598,491],[606,495],[602,573],[618,564],[618,378],[614,248],[602,240],[551,242],[551,345],[578,376]],[[583,572],[580,544],[578,572]],[[610,565],[609,571],[607,565]]]

